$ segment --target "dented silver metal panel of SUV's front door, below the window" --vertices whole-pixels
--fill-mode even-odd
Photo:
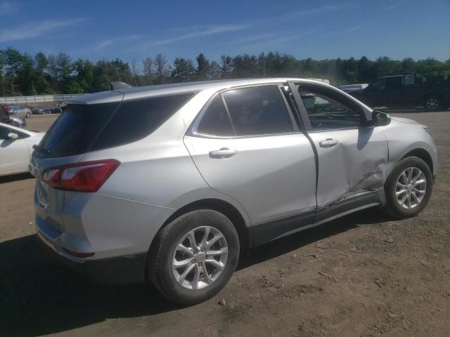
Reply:
[[[312,131],[309,136],[318,154],[318,208],[383,187],[389,156],[383,128]],[[336,145],[321,147],[327,139]]]

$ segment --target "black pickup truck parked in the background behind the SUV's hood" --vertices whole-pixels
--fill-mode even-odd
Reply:
[[[450,106],[450,77],[386,76],[349,94],[371,107],[425,107],[435,111]]]

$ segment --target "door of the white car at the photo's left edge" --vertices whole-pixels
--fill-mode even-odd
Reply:
[[[19,137],[11,139],[8,137],[9,133],[15,133]],[[0,126],[0,174],[27,171],[30,150],[23,138],[22,133]]]

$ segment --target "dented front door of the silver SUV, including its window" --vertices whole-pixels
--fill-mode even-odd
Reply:
[[[318,209],[379,200],[388,156],[383,129],[370,126],[359,103],[337,90],[319,84],[291,87],[300,93],[302,119],[316,147]],[[318,213],[316,221],[320,218]]]

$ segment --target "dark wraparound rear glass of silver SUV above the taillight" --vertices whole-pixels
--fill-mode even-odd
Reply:
[[[140,140],[153,133],[193,93],[123,103],[68,105],[42,139],[45,157],[68,157]]]

